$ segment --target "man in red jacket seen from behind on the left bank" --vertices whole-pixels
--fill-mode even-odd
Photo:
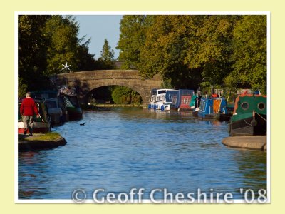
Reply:
[[[20,113],[24,123],[24,134],[29,131],[30,136],[33,136],[33,116],[36,115],[38,118],[40,115],[35,101],[31,98],[31,92],[26,93],[26,98],[21,103]]]

